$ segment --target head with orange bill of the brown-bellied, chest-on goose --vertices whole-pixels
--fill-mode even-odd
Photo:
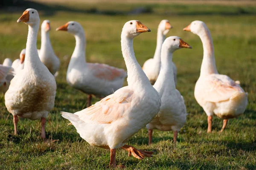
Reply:
[[[23,12],[21,17],[17,20],[17,23],[26,23],[29,26],[40,23],[38,11],[33,8],[28,8]]]

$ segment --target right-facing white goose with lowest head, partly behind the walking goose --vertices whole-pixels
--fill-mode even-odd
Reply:
[[[161,108],[157,116],[146,125],[150,145],[152,143],[153,129],[161,131],[174,131],[174,142],[178,131],[186,122],[186,106],[183,97],[175,87],[172,69],[172,54],[180,48],[192,48],[180,37],[166,38],[161,50],[161,70],[153,87],[161,97]]]

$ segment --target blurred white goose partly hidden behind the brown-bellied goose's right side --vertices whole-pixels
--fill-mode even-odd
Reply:
[[[55,55],[52,49],[52,44],[49,37],[50,29],[50,21],[44,20],[41,25],[41,49],[38,50],[38,54],[41,62],[44,63],[44,65],[49,69],[52,75],[55,75],[60,66],[60,60]]]

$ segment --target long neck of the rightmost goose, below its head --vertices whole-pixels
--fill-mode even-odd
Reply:
[[[200,76],[205,76],[208,74],[218,74],[215,64],[212,36],[209,29],[207,27],[204,27],[204,29],[200,32],[200,34],[198,34],[198,36],[201,38],[204,48],[204,57],[201,65]]]

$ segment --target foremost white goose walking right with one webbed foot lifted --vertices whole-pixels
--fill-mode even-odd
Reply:
[[[122,55],[128,71],[128,86],[106,96],[95,105],[74,114],[62,112],[90,145],[110,149],[110,166],[116,167],[116,149],[122,148],[137,159],[150,157],[153,152],[126,145],[128,138],[156,116],[161,99],[136,60],[133,39],[149,32],[140,21],[125,23],[121,34]]]

